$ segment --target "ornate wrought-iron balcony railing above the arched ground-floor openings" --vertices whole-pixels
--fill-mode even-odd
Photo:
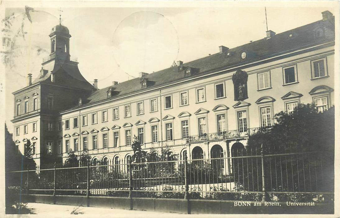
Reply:
[[[217,141],[232,138],[249,137],[259,131],[269,130],[271,127],[255,127],[247,130],[229,130],[217,133],[205,133],[202,135],[192,135],[186,138],[187,143],[202,142],[202,141]]]

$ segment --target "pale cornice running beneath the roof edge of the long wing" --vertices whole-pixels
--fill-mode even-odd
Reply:
[[[259,61],[254,61],[254,62],[250,62],[250,63],[241,63],[241,64],[237,64],[237,65],[233,65],[233,66],[211,69],[209,71],[200,73],[198,75],[194,75],[194,76],[187,77],[187,78],[182,78],[182,79],[179,79],[177,81],[172,81],[172,82],[164,83],[164,84],[161,84],[161,85],[158,85],[158,86],[155,86],[155,87],[150,87],[150,88],[146,88],[146,89],[143,89],[143,90],[134,91],[132,93],[125,94],[125,95],[122,95],[122,96],[119,96],[119,97],[116,97],[116,98],[111,98],[111,99],[108,99],[108,100],[102,100],[102,101],[94,102],[92,104],[87,104],[87,105],[84,105],[82,107],[77,107],[77,108],[61,111],[60,114],[63,115],[63,114],[66,114],[66,113],[79,111],[79,110],[82,110],[82,109],[85,109],[85,108],[88,108],[88,107],[92,107],[92,106],[96,106],[96,105],[100,105],[100,104],[105,104],[105,103],[120,100],[120,99],[123,99],[123,98],[128,98],[128,97],[134,96],[136,94],[147,93],[149,91],[159,90],[159,89],[162,89],[162,88],[165,88],[165,87],[173,86],[173,85],[183,83],[183,82],[187,82],[187,81],[191,81],[191,80],[197,80],[199,78],[211,76],[211,75],[218,74],[218,73],[225,73],[225,72],[229,72],[229,71],[235,71],[235,70],[238,70],[238,69],[251,67],[251,66],[254,66],[254,65],[255,66],[260,65],[260,64],[263,64],[263,63],[267,63],[267,62],[278,60],[278,59],[283,59],[283,58],[293,56],[293,55],[296,55],[296,54],[305,53],[305,52],[309,52],[309,51],[313,51],[313,50],[317,50],[317,49],[321,49],[321,48],[334,46],[334,44],[335,44],[335,41],[332,40],[332,41],[328,41],[326,43],[322,43],[322,44],[318,44],[318,45],[314,45],[314,46],[300,48],[300,49],[297,49],[297,50],[289,50],[289,51],[285,51],[284,53],[283,52],[277,53],[277,54],[274,54],[271,57],[267,57],[267,58],[264,58],[264,59],[259,60]]]

